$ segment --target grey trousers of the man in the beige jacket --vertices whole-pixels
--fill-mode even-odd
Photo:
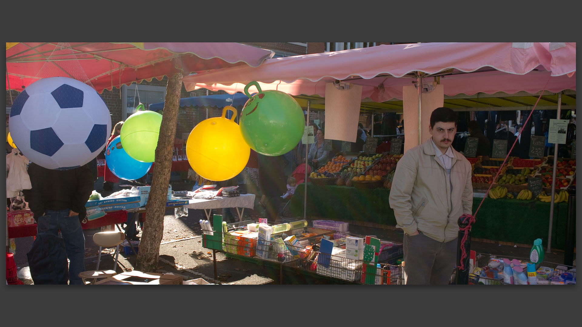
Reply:
[[[404,283],[448,285],[457,260],[457,239],[441,243],[422,232],[404,234]]]

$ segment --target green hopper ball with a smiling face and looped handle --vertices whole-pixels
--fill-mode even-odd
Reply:
[[[250,86],[258,93],[249,94]],[[301,106],[281,91],[262,91],[256,81],[244,87],[249,100],[240,114],[244,141],[262,155],[277,156],[293,150],[303,136],[305,118]]]

